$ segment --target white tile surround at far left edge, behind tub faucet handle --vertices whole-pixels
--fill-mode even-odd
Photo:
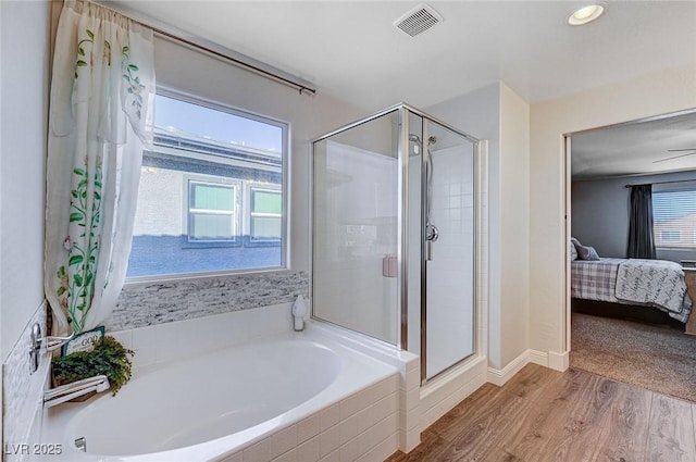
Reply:
[[[48,380],[50,355],[41,354],[39,369],[29,371],[30,332],[34,323],[39,323],[46,335],[46,302],[36,310],[34,316],[20,336],[12,352],[2,364],[2,412],[3,412],[3,453],[4,461],[22,460],[21,453],[5,450],[11,445],[38,441],[41,422],[44,387]],[[15,446],[16,447],[16,446]]]

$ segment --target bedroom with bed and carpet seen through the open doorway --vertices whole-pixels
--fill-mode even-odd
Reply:
[[[696,110],[567,135],[566,172],[570,366],[696,402]]]

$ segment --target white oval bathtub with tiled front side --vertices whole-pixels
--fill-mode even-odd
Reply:
[[[41,441],[55,461],[376,462],[398,449],[398,407],[395,365],[314,326],[136,369],[116,397],[47,410]]]

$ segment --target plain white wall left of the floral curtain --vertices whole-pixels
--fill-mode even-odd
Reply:
[[[0,2],[0,358],[2,363],[44,300],[45,162],[48,116],[49,2]],[[26,354],[18,355],[23,363]],[[7,369],[5,369],[7,371]],[[17,367],[29,380],[28,364]],[[42,380],[35,374],[35,380]],[[12,387],[5,389],[10,392]],[[22,390],[28,395],[28,390]],[[0,384],[2,392],[2,384]],[[21,407],[5,396],[7,407]],[[20,399],[21,397],[16,397]],[[3,412],[4,416],[5,412]],[[5,430],[25,434],[33,410]],[[2,430],[0,424],[0,430]],[[3,432],[4,433],[4,432]],[[26,442],[26,441],[13,441]]]

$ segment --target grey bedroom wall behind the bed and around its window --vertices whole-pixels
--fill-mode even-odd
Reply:
[[[625,258],[631,191],[625,185],[682,179],[696,179],[696,171],[573,182],[571,233],[582,244],[593,246],[600,257]],[[657,258],[694,260],[696,251],[658,249]]]

